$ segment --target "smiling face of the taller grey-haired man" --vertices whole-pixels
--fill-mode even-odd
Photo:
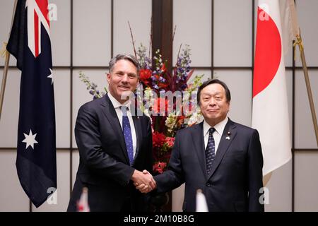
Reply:
[[[131,61],[121,59],[114,64],[112,72],[107,73],[110,93],[120,103],[136,90],[139,81],[136,66]]]

